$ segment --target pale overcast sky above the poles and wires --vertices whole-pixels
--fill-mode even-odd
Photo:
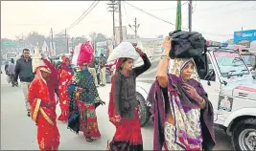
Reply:
[[[185,3],[182,1],[181,3]],[[103,32],[112,35],[112,14],[106,10],[107,1],[101,1],[84,19],[68,31],[72,36]],[[175,23],[175,1],[128,1],[144,11]],[[92,1],[1,1],[1,37],[14,38],[15,35],[36,31],[44,35],[67,28],[77,20]],[[256,1],[194,1],[193,31],[202,32],[208,39],[226,40],[233,32],[256,29]],[[188,4],[182,6],[182,26],[188,28]],[[154,38],[167,35],[175,26],[157,20],[142,11],[124,3],[122,7],[123,25],[133,24],[134,18],[140,24],[138,34]],[[118,13],[116,13],[118,18]],[[119,25],[118,19],[116,25]],[[128,33],[134,33],[128,28]]]

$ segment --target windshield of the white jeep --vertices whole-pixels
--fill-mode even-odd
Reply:
[[[243,76],[249,75],[248,68],[244,64],[243,58],[237,52],[218,50],[214,52],[221,76]]]

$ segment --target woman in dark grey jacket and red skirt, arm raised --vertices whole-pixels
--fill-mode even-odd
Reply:
[[[130,45],[131,49],[134,49]],[[107,143],[111,151],[142,151],[143,141],[138,115],[138,100],[136,99],[136,77],[151,67],[146,54],[136,49],[144,60],[144,65],[133,68],[133,59],[120,58],[112,76],[112,87],[108,104],[108,116],[116,126],[113,140]]]

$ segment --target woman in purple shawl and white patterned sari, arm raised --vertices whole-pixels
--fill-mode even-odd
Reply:
[[[148,100],[153,115],[153,150],[212,150],[215,145],[213,107],[198,82],[192,58],[175,58],[169,65],[171,39],[163,44],[164,53],[157,79]]]

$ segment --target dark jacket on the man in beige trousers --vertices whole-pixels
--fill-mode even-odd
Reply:
[[[32,82],[35,75],[32,72],[31,57],[29,57],[28,61],[26,61],[24,55],[21,55],[20,58],[16,61],[15,81],[17,81],[18,76],[21,82]]]

